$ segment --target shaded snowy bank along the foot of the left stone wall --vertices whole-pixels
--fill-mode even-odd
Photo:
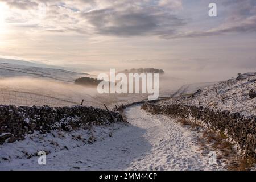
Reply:
[[[88,126],[88,129],[71,132],[54,130],[47,134],[39,134],[36,131],[34,134],[26,135],[26,139],[22,141],[4,143],[0,146],[0,169],[6,160],[15,163],[17,159],[36,156],[38,151],[43,150],[47,154],[54,154],[62,150],[71,150],[88,143],[93,143],[94,140],[103,140],[110,133],[123,126],[125,124],[115,123],[114,126]]]

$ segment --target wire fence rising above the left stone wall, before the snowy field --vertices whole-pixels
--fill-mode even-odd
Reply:
[[[0,104],[19,105],[19,106],[42,106],[52,107],[72,106],[81,104],[82,100],[73,100],[69,98],[57,98],[36,94],[31,92],[20,92],[14,90],[0,89]]]

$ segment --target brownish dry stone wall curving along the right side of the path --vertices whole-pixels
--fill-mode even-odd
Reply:
[[[143,109],[153,114],[166,114],[171,117],[190,119],[200,123],[209,130],[222,132],[239,144],[240,150],[246,156],[256,158],[256,117],[243,116],[240,113],[230,111],[213,110],[203,106],[184,104],[149,104]]]

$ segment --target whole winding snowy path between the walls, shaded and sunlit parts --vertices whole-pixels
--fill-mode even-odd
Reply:
[[[38,158],[17,159],[0,169],[30,170],[195,170],[213,169],[197,151],[195,133],[162,115],[150,115],[140,106],[126,109],[131,123],[101,142]]]

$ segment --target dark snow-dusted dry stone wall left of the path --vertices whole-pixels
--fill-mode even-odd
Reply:
[[[121,114],[94,107],[0,105],[0,144],[23,140],[26,134],[34,131],[71,131],[82,125],[109,125],[115,122],[124,122]]]

